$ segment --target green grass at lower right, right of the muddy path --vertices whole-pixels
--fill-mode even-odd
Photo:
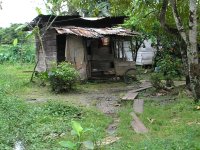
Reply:
[[[177,98],[175,101],[168,101],[163,104],[162,99],[169,99],[169,97],[170,95],[157,98],[143,97],[146,99],[144,112],[138,117],[149,129],[147,134],[136,134],[130,128],[130,122],[133,120],[130,116],[132,103],[122,105],[119,110],[120,124],[117,133],[123,138],[119,142],[110,145],[108,149],[199,149],[200,132],[198,130],[200,127],[198,122],[200,120],[197,119],[197,116],[200,115],[200,111],[193,110],[195,105],[185,95],[183,95],[183,98]]]

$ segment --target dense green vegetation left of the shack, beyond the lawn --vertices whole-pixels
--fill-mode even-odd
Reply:
[[[33,36],[28,39],[29,33],[23,31],[23,27],[22,24],[12,24],[8,28],[0,28],[0,63],[35,61]]]

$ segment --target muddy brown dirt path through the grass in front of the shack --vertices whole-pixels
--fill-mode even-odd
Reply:
[[[149,83],[148,83],[149,84]],[[46,102],[48,100],[59,100],[74,103],[86,107],[95,107],[99,111],[113,118],[113,122],[108,125],[106,132],[107,136],[117,137],[116,130],[119,125],[119,118],[117,112],[120,108],[121,98],[130,90],[137,90],[143,88],[145,82],[141,84],[134,84],[131,86],[116,86],[116,87],[103,87],[80,90],[67,94],[52,94],[48,92],[35,91],[26,98],[28,102]],[[99,86],[101,86],[99,84]],[[48,95],[44,95],[48,93]]]

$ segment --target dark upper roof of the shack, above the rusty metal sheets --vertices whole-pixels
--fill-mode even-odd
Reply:
[[[35,26],[45,28],[51,27],[76,26],[83,28],[111,28],[124,23],[126,16],[115,17],[81,17],[81,16],[53,16],[39,15],[34,18],[27,27],[26,31],[32,30]]]

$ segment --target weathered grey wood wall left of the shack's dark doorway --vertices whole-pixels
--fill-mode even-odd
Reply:
[[[41,32],[41,35],[43,32]],[[57,62],[57,44],[56,44],[56,31],[48,30],[43,36],[43,46],[45,53],[43,53],[38,37],[36,37],[36,59],[38,61],[38,65],[36,67],[36,71],[45,71],[46,69],[51,68],[51,65],[54,62]],[[46,59],[46,64],[45,64]]]

